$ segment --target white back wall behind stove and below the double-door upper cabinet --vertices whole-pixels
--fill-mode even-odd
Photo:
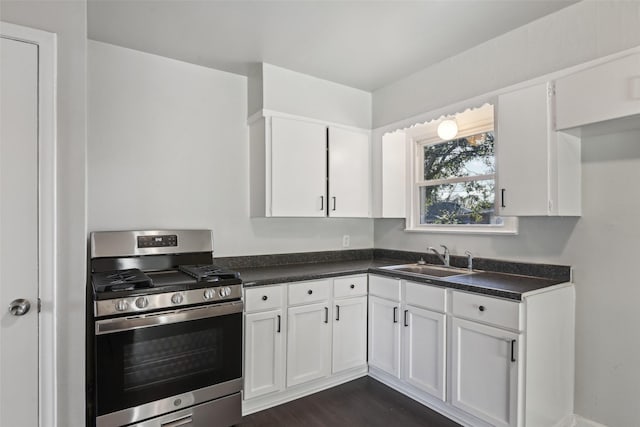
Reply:
[[[373,245],[373,220],[250,218],[247,79],[89,41],[89,230],[211,228],[217,256]]]

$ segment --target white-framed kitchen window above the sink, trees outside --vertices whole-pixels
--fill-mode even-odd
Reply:
[[[438,120],[412,136],[414,167],[407,231],[515,233],[517,220],[496,215],[493,107],[460,113],[458,132],[442,139]]]

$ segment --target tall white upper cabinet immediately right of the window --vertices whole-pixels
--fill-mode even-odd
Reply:
[[[580,139],[553,129],[553,85],[498,97],[496,205],[502,216],[579,216]]]

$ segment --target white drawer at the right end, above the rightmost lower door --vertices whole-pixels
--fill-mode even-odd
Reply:
[[[453,292],[453,315],[521,330],[520,303],[465,292]]]

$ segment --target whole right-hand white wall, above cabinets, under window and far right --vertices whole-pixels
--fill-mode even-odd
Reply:
[[[638,45],[640,2],[580,2],[375,92],[374,125]],[[424,251],[446,244],[456,254],[572,265],[575,411],[611,427],[637,426],[640,131],[588,137],[582,150],[581,218],[521,218],[517,236],[405,233],[403,220],[376,220],[374,245]]]

